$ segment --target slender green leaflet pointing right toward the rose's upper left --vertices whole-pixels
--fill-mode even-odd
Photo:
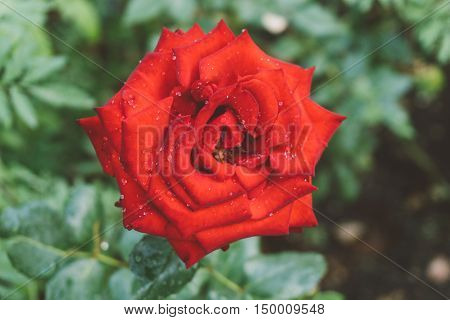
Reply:
[[[67,83],[46,83],[29,86],[28,90],[37,99],[55,107],[75,109],[92,108],[95,101],[82,89]]]

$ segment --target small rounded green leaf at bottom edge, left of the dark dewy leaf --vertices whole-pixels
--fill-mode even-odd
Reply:
[[[142,281],[129,269],[119,269],[108,280],[110,298],[114,300],[135,299],[137,290],[143,285]]]

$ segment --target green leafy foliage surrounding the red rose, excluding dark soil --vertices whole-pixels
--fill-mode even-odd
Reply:
[[[361,211],[354,206],[370,192],[367,181],[378,170],[392,170],[382,157],[386,139],[406,154],[412,171],[430,177],[420,192],[444,206],[449,200],[448,170],[442,172],[440,163],[448,158],[436,160],[427,151],[429,140],[423,137],[430,133],[412,116],[416,108],[430,110],[449,92],[446,4],[1,0],[0,296],[343,298],[327,289],[346,291],[345,285],[334,284],[330,275],[323,280],[327,253],[336,249],[328,235],[332,226],[275,244],[241,241],[184,270],[167,243],[122,227],[113,206],[118,193],[74,120],[91,115],[92,107],[118,90],[120,81],[152,50],[163,26],[188,28],[198,22],[208,30],[224,18],[236,33],[249,29],[270,54],[316,66],[313,97],[348,117],[318,168],[319,208],[338,218],[349,208]],[[274,19],[281,21],[281,30],[274,28]],[[441,135],[448,132],[444,129]],[[436,218],[445,218],[440,212]],[[414,216],[401,218],[408,219]],[[364,223],[370,228],[369,220]],[[413,232],[416,227],[411,225]],[[441,250],[436,244],[447,229],[433,223],[427,228],[424,241]],[[420,261],[421,268],[423,264]]]

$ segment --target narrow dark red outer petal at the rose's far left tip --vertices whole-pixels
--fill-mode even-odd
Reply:
[[[110,176],[114,175],[111,164],[111,145],[105,129],[97,116],[78,120],[78,124],[89,136],[103,171]]]

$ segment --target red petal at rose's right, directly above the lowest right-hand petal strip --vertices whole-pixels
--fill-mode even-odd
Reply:
[[[295,199],[313,192],[317,188],[303,177],[294,177],[280,181],[271,181],[264,192],[250,201],[250,212],[253,219],[260,219],[275,212]]]

